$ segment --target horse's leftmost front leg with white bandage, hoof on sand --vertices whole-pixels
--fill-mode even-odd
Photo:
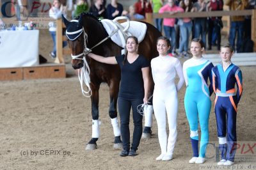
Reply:
[[[86,150],[95,150],[97,149],[97,141],[100,135],[99,128],[99,87],[100,85],[90,84],[92,89],[92,139],[86,146]]]

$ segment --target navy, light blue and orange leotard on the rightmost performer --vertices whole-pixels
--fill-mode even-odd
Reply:
[[[234,162],[237,104],[243,91],[242,72],[239,67],[231,63],[224,71],[222,65],[214,66],[212,88],[216,93],[215,114],[221,159]]]

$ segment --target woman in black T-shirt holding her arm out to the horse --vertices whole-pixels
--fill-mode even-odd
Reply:
[[[101,63],[111,65],[118,64],[121,68],[121,82],[118,93],[118,111],[120,114],[120,128],[123,140],[121,157],[135,156],[140,144],[142,135],[142,118],[137,111],[137,106],[148,102],[148,76],[150,63],[144,56],[137,53],[138,39],[135,36],[128,36],[126,40],[126,54],[104,58],[89,53],[90,58]],[[130,150],[129,118],[132,108],[134,123],[133,138]]]

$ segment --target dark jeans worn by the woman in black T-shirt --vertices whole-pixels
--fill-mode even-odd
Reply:
[[[133,118],[133,136],[132,136],[132,150],[138,150],[140,139],[142,135],[142,118],[143,116],[137,111],[137,106],[143,104],[143,99],[127,99],[118,97],[118,111],[120,114],[120,130],[123,140],[124,150],[130,150],[130,111],[132,108]]]

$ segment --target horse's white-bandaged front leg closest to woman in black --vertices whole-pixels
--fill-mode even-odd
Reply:
[[[121,141],[121,133],[120,127],[118,125],[117,119],[117,112],[116,112],[116,103],[118,98],[118,90],[119,90],[119,81],[111,81],[109,83],[109,96],[110,96],[110,103],[109,103],[109,117],[111,118],[111,124],[113,127],[115,141],[114,141],[114,148],[115,149],[122,149],[122,141]]]

